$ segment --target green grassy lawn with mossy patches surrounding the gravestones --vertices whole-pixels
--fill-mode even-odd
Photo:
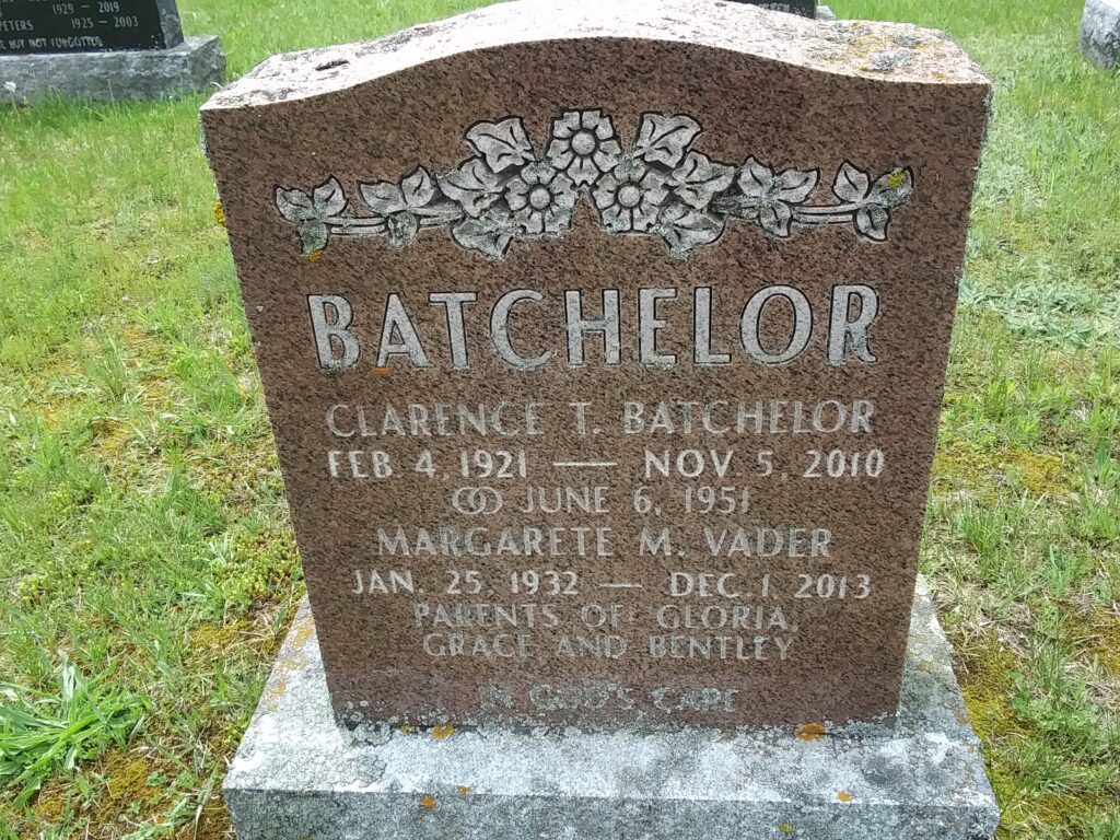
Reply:
[[[477,0],[180,0],[233,75]],[[1081,0],[836,0],[997,82],[923,564],[1006,838],[1120,838],[1120,76]],[[204,96],[0,111],[0,840],[231,837],[301,580]]]

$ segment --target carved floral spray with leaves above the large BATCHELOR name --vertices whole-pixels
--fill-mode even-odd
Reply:
[[[909,169],[872,181],[844,161],[832,183],[839,203],[810,204],[820,169],[715,161],[691,148],[700,131],[684,114],[643,114],[627,150],[609,115],[566,111],[538,156],[524,121],[507,116],[470,127],[464,137],[475,155],[450,171],[418,167],[399,183],[358,184],[368,213],[351,207],[335,177],[309,193],[277,187],[276,206],[296,225],[305,254],[333,236],[383,236],[407,248],[423,228],[447,227],[461,248],[497,260],[514,241],[562,236],[586,195],[608,233],[660,236],[684,260],[731,220],[775,239],[799,226],[850,225],[860,239],[884,242],[893,212],[914,194]]]

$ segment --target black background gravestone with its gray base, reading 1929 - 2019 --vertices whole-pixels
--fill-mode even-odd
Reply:
[[[100,101],[205,90],[222,80],[218,39],[183,37],[175,0],[0,3],[0,101]]]

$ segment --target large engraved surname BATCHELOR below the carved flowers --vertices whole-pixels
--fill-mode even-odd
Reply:
[[[588,305],[587,297],[599,299]],[[588,363],[586,345],[592,340],[601,348],[598,356],[603,364],[618,366],[629,362],[622,349],[624,325],[636,335],[635,361],[640,365],[673,367],[681,363],[681,357],[661,346],[661,334],[671,327],[671,319],[678,318],[687,319],[690,328],[688,361],[700,367],[729,365],[732,355],[739,354],[763,365],[792,362],[809,349],[814,324],[821,317],[828,323],[824,357],[829,365],[841,367],[852,357],[864,364],[877,361],[869,345],[869,332],[879,315],[879,295],[870,286],[832,287],[828,311],[823,314],[814,312],[808,296],[794,286],[765,286],[746,296],[741,308],[736,309],[737,335],[730,336],[713,335],[713,325],[727,319],[715,316],[710,287],[694,289],[691,298],[689,307],[682,305],[676,289],[647,288],[638,289],[637,300],[624,306],[617,289],[605,289],[598,295],[573,289],[564,291],[562,297],[536,289],[513,289],[485,304],[474,291],[432,292],[422,301],[405,302],[401,295],[390,292],[382,311],[362,314],[365,323],[360,323],[354,306],[343,295],[309,295],[307,304],[315,352],[325,370],[354,367],[367,340],[363,336],[377,335],[377,367],[398,358],[412,367],[433,367],[430,351],[439,344],[440,357],[447,360],[451,371],[469,371],[466,310],[479,304],[488,309],[483,329],[493,352],[519,371],[534,371],[549,363],[584,367]],[[442,309],[446,323],[421,336],[417,328],[418,306]],[[557,309],[562,310],[563,318],[558,340],[530,346],[516,338],[513,325],[519,317],[538,319]],[[374,327],[366,333],[371,315],[380,317],[380,330]],[[766,319],[782,316],[792,321],[788,336],[765,340]]]

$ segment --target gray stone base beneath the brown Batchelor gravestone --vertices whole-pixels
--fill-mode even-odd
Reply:
[[[365,735],[335,724],[305,604],[225,781],[240,840],[987,840],[999,820],[924,594],[893,727]]]

